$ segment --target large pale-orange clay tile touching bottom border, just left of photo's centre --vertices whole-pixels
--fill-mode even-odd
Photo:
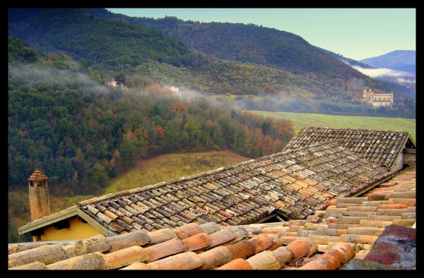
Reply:
[[[194,252],[173,255],[148,264],[151,270],[194,270],[203,265],[204,261]]]

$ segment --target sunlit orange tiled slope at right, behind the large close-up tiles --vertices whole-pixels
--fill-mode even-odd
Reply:
[[[346,242],[355,248],[355,258],[364,259],[385,227],[411,227],[415,223],[416,168],[408,167],[360,197],[336,198],[326,210],[316,211],[307,219],[266,229],[251,224],[245,229],[251,234],[278,234],[278,240],[285,244],[309,237],[321,251]]]

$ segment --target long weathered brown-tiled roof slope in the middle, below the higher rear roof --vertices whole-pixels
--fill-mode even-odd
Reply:
[[[93,198],[78,208],[115,234],[189,223],[250,224],[276,212],[305,219],[331,198],[360,193],[387,176],[384,167],[321,143]]]

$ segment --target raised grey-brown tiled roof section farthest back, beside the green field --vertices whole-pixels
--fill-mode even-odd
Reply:
[[[331,141],[336,142],[344,150],[349,150],[390,169],[408,138],[415,147],[415,143],[406,131],[305,127],[290,140],[283,150],[293,150],[298,147]]]

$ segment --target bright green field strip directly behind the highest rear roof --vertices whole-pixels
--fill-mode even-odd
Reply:
[[[326,114],[305,114],[291,112],[269,112],[249,110],[254,114],[285,118],[293,121],[295,133],[304,126],[317,126],[328,128],[365,128],[382,129],[389,131],[408,131],[416,142],[416,119],[384,118],[367,116],[338,116]]]

